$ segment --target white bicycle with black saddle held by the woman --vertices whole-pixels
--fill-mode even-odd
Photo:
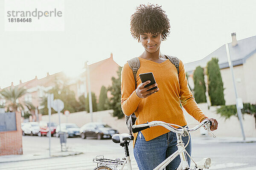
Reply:
[[[195,124],[195,123],[193,123]],[[191,124],[190,124],[191,125]],[[180,165],[177,168],[177,170],[203,170],[204,168],[209,169],[211,166],[211,159],[210,158],[204,158],[198,163],[195,163],[195,161],[191,158],[191,156],[187,153],[185,150],[186,146],[189,144],[190,137],[188,139],[188,142],[186,146],[184,146],[184,143],[182,141],[182,136],[189,136],[189,132],[193,132],[195,130],[198,130],[200,127],[204,127],[207,131],[212,133],[210,131],[211,122],[209,120],[204,120],[200,124],[195,124],[197,126],[193,128],[187,128],[182,127],[179,125],[166,123],[162,121],[152,121],[145,124],[140,125],[133,125],[132,131],[133,133],[137,133],[141,130],[145,130],[147,128],[153,127],[153,126],[163,126],[168,130],[171,130],[172,132],[176,133],[177,136],[177,150],[175,153],[173,153],[171,156],[169,156],[167,159],[165,159],[162,163],[160,163],[157,167],[154,168],[154,170],[163,170],[173,159],[175,159],[178,155],[180,156]],[[172,126],[180,127],[175,128]],[[212,133],[213,137],[216,136]],[[122,159],[105,159],[104,156],[96,156],[95,159],[93,159],[94,163],[97,163],[97,167],[95,167],[93,170],[123,170],[125,167],[125,164],[128,165],[128,170],[132,170],[131,168],[131,159],[129,155],[128,150],[128,144],[130,141],[134,139],[133,136],[122,133],[122,134],[115,134],[112,136],[112,141],[114,143],[120,143],[122,147],[125,147],[125,158]],[[195,168],[191,169],[189,167],[186,155],[189,156],[189,158],[194,162]],[[122,165],[120,169],[117,168],[118,165]]]

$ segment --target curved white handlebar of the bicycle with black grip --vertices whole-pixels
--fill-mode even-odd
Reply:
[[[166,129],[171,130],[174,133],[184,133],[184,130],[185,131],[189,131],[189,132],[193,132],[195,130],[198,130],[201,126],[207,125],[208,123],[210,124],[210,126],[212,125],[211,121],[203,120],[199,125],[189,129],[189,128],[186,128],[186,127],[183,128],[183,127],[181,127],[179,125],[175,125],[175,124],[171,124],[171,123],[166,123],[166,122],[162,122],[162,121],[152,121],[152,122],[147,122],[147,123],[140,124],[140,125],[133,125],[132,126],[132,132],[133,133],[137,133],[137,132],[139,132],[141,130],[144,130],[144,129],[147,129],[147,128],[150,128],[150,127],[153,127],[153,126],[163,126]],[[172,127],[171,125],[172,126],[181,127],[181,129],[177,129],[175,127]]]

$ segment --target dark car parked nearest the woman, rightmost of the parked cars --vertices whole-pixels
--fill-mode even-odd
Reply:
[[[96,137],[97,139],[111,138],[114,134],[119,133],[106,123],[92,122],[83,125],[80,130],[81,138]]]

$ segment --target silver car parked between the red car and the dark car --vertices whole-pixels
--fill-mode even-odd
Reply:
[[[59,137],[60,125],[57,126],[56,137]],[[67,137],[79,136],[79,127],[74,123],[61,123],[61,132],[67,133]]]

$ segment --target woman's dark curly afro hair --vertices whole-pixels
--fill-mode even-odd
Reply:
[[[170,23],[162,6],[140,5],[131,15],[131,35],[140,42],[140,34],[162,34],[162,40],[170,33]]]

